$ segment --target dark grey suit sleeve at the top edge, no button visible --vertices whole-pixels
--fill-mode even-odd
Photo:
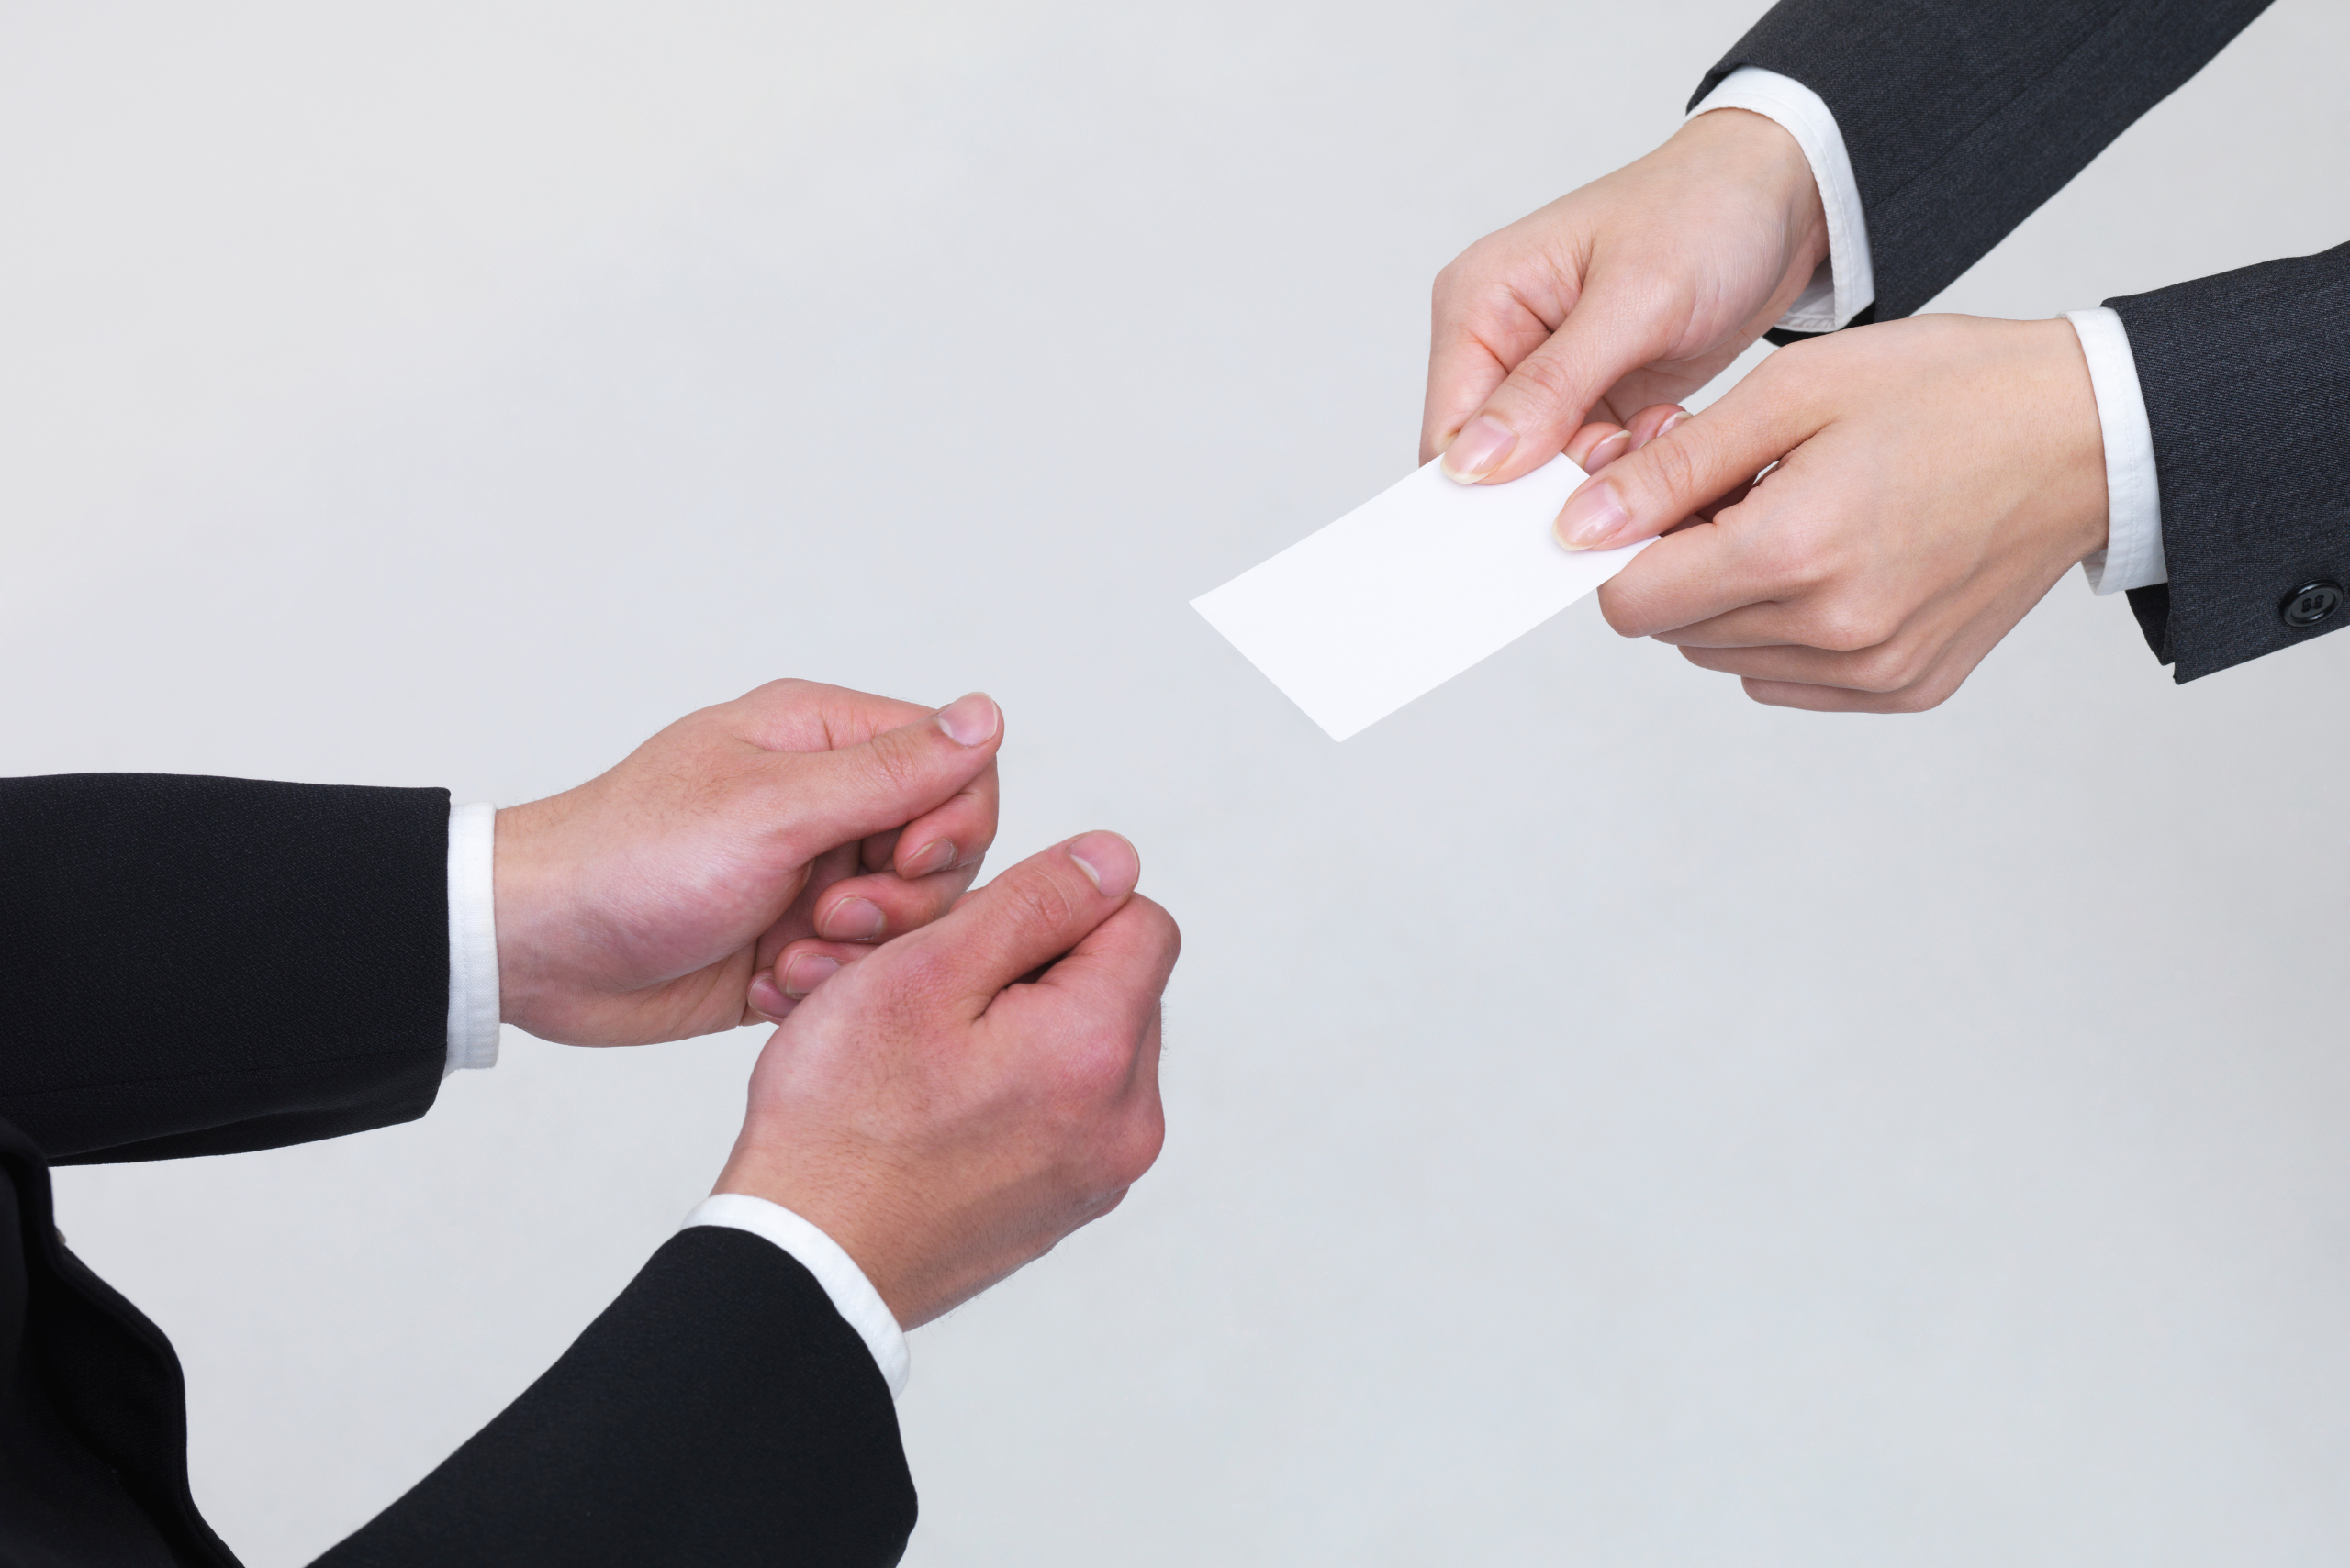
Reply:
[[[1920,310],[2202,70],[2268,0],[1784,0],[1706,73],[1739,66],[1835,113],[1878,298]]]

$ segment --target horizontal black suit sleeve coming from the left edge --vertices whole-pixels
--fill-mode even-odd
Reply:
[[[446,854],[442,789],[0,779],[0,1117],[75,1164],[423,1115]]]

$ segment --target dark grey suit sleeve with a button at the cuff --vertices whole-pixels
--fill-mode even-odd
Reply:
[[[2350,624],[2350,244],[2106,300],[2155,434],[2169,582],[2131,589],[2178,681]]]

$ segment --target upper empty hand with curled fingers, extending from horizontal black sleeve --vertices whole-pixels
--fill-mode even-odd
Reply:
[[[578,789],[498,812],[498,1002],[566,1045],[757,1023],[794,939],[942,915],[996,836],[1003,716],[773,681]],[[862,871],[862,876],[860,876]]]

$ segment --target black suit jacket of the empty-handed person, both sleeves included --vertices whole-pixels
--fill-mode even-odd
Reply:
[[[179,1359],[63,1246],[49,1167],[423,1115],[446,822],[425,789],[0,779],[0,1568],[235,1568],[188,1493]],[[696,1228],[322,1561],[862,1566],[912,1526],[872,1352],[787,1253]]]

